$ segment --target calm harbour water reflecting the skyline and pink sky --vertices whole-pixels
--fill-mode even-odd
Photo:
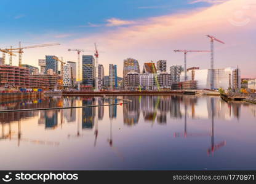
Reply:
[[[256,169],[256,105],[208,96],[122,98],[133,102],[0,113],[0,169]],[[0,109],[95,103],[55,97],[1,103]]]

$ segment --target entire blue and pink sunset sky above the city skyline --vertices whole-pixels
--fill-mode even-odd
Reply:
[[[255,0],[1,0],[0,48],[58,42],[52,47],[24,50],[23,64],[38,66],[45,55],[77,61],[68,48],[89,50],[94,42],[99,63],[118,65],[122,77],[123,60],[143,63],[167,60],[183,65],[183,53],[175,49],[210,50],[207,34],[225,44],[214,43],[214,67],[239,67],[241,77],[256,78]],[[6,58],[9,63],[9,58]],[[13,58],[18,65],[18,57]],[[210,67],[209,53],[188,53],[187,67]]]

